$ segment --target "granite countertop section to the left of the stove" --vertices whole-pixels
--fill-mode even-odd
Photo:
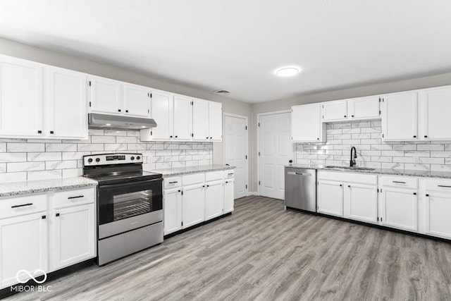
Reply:
[[[96,186],[97,181],[85,177],[30,180],[0,184],[0,197],[29,195],[54,190],[76,189]]]

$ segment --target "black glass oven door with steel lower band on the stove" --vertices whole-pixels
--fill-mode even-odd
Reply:
[[[163,179],[99,186],[99,238],[163,219]]]

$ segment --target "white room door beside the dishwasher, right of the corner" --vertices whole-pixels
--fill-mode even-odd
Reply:
[[[285,197],[285,168],[294,160],[291,142],[291,113],[259,118],[259,195]]]

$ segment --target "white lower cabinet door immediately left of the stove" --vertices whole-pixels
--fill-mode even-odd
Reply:
[[[53,270],[95,256],[94,221],[94,204],[55,210]]]

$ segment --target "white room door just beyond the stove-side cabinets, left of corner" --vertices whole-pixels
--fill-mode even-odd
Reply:
[[[247,119],[224,116],[224,164],[235,167],[235,199],[247,195]]]

